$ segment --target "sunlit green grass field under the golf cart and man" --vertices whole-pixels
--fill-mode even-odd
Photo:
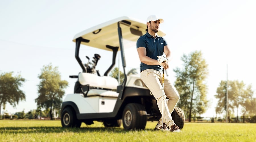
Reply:
[[[60,120],[0,120],[0,141],[256,141],[256,124],[185,123],[180,133],[104,128],[101,122],[62,128]]]

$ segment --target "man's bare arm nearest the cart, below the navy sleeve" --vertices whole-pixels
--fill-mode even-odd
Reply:
[[[146,56],[147,53],[146,53],[146,48],[145,47],[138,47],[137,51],[138,51],[139,58],[140,58],[141,62],[143,62],[144,64],[159,65],[159,62],[157,60]]]

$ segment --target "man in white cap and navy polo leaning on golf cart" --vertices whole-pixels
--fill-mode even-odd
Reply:
[[[163,109],[162,103],[166,103],[166,97],[169,98],[167,106],[172,113],[179,100],[179,94],[174,85],[167,78],[164,78],[164,99],[162,97],[162,68],[165,70],[169,68],[168,58],[171,55],[165,39],[157,35],[159,25],[163,23],[164,20],[152,15],[147,18],[146,22],[148,28],[147,33],[141,36],[137,41],[137,51],[141,60],[141,80],[156,98],[161,113]],[[164,57],[164,54],[166,57]],[[165,107],[164,110],[164,114],[167,114]],[[172,118],[169,118],[168,115],[163,116],[164,123],[162,124],[161,117],[155,130],[162,130],[163,128],[165,131],[180,131]]]

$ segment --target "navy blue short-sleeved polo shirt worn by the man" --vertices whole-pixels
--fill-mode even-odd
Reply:
[[[146,48],[146,56],[157,60],[157,56],[161,56],[164,54],[164,46],[166,46],[167,43],[164,40],[164,38],[160,36],[156,36],[154,39],[153,36],[151,36],[148,32],[144,34],[143,36],[139,37],[137,40],[137,48],[139,47],[145,47]],[[141,62],[140,65],[141,72],[146,69],[154,69],[158,71],[162,71],[162,66],[160,65],[147,65]]]

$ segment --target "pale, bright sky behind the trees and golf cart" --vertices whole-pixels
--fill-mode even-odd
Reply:
[[[20,101],[16,108],[7,103],[0,111],[36,109],[38,75],[50,63],[58,67],[61,79],[69,82],[65,94],[73,93],[76,80],[69,75],[82,72],[75,59],[75,34],[121,16],[146,22],[148,16],[157,15],[164,19],[160,30],[166,33],[164,38],[172,52],[168,78],[174,83],[173,69],[183,67],[182,55],[201,51],[208,64],[210,101],[201,116],[216,116],[214,95],[221,80],[243,81],[256,92],[255,7],[255,0],[0,0],[0,73],[14,72],[26,79],[20,87],[26,101]],[[108,66],[103,61],[110,59],[110,52],[86,47],[81,53],[84,63],[88,61],[85,55],[92,58],[100,54],[96,68],[104,74]],[[136,46],[127,49],[125,57],[127,70],[139,68]]]

